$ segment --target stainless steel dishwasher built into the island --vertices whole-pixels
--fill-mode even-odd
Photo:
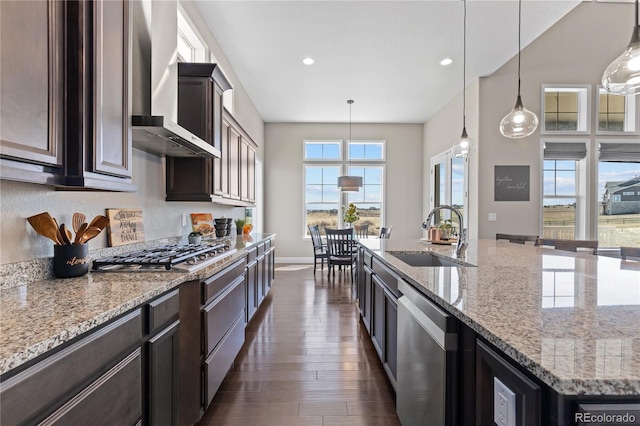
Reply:
[[[457,320],[398,280],[398,386],[403,426],[456,424]]]

